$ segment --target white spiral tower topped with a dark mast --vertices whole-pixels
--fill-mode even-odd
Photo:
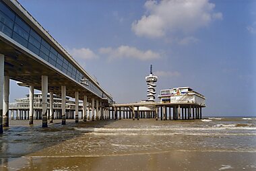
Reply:
[[[152,65],[150,65],[150,75],[146,76],[146,82],[148,84],[148,101],[149,102],[154,102],[155,101],[155,94],[156,94],[156,81],[158,81],[158,76],[154,76],[152,73]]]

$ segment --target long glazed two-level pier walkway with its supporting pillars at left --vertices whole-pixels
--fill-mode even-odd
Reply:
[[[9,126],[9,79],[20,81],[30,92],[30,124],[34,118],[34,90],[42,92],[42,127],[47,127],[47,94],[53,115],[53,94],[61,97],[61,118],[65,125],[66,96],[75,98],[75,122],[79,100],[83,116],[88,104],[92,119],[108,110],[113,97],[82,68],[59,42],[16,0],[0,0],[0,133]]]

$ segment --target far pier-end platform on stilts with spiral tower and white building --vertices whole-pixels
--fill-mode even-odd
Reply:
[[[201,119],[205,97],[189,87],[160,90],[159,102],[155,102],[158,77],[152,72],[146,76],[148,100],[130,104],[113,104],[113,118],[160,118],[160,120]]]

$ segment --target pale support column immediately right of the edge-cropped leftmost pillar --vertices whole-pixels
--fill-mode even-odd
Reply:
[[[9,76],[3,81],[3,127],[9,127]]]

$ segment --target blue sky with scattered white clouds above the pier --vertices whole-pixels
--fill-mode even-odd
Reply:
[[[204,116],[256,116],[256,1],[19,2],[117,103],[147,98],[152,64],[156,95],[189,86]]]

